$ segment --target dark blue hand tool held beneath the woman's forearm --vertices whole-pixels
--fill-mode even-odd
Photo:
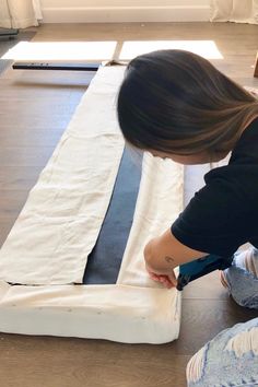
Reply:
[[[178,291],[181,291],[190,281],[194,281],[202,275],[206,275],[214,270],[224,270],[232,265],[234,256],[220,257],[209,255],[191,262],[179,266],[179,275],[177,278]]]

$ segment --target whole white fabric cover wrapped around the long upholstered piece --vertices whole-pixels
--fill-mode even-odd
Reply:
[[[183,209],[180,165],[144,155],[117,283],[81,284],[122,155],[115,102],[124,71],[97,71],[0,250],[0,331],[130,343],[178,337],[180,294],[149,278],[143,247]]]

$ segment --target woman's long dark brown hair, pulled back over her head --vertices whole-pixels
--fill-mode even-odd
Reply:
[[[258,116],[258,99],[207,59],[171,49],[130,61],[117,113],[125,139],[139,149],[227,153]]]

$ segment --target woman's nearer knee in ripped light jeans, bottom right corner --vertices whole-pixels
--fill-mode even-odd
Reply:
[[[220,332],[201,348],[186,368],[188,387],[256,386],[258,318]]]

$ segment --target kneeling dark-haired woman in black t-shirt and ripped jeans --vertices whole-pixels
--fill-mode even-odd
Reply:
[[[222,283],[238,304],[258,309],[257,98],[202,57],[161,50],[129,63],[117,109],[126,141],[154,156],[188,165],[232,152],[228,165],[204,176],[206,186],[171,228],[148,243],[144,259],[152,279],[172,288],[175,267],[235,255]],[[247,242],[254,247],[235,254]],[[204,345],[188,363],[188,385],[255,386],[257,364],[258,318]]]

